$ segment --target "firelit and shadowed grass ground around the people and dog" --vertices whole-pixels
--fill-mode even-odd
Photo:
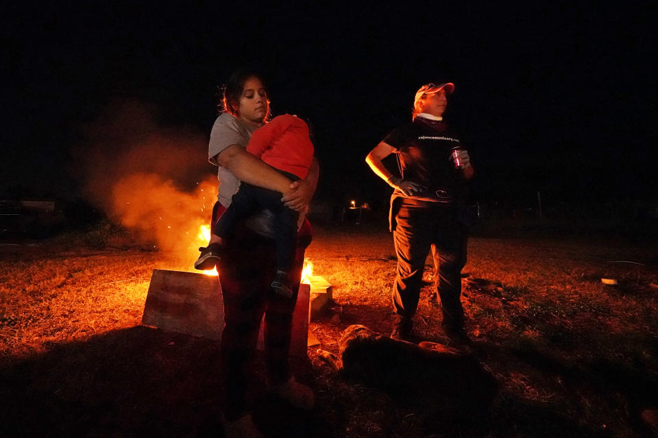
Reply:
[[[0,246],[0,435],[221,436],[215,342],[139,325],[151,271],[191,270],[190,257],[107,230],[37,245]],[[389,331],[385,230],[318,228],[306,255],[334,291],[310,324],[321,348],[337,353],[350,324]],[[431,282],[428,269],[415,329],[442,342]],[[314,347],[293,369],[317,408],[298,415],[256,389],[256,422],[271,436],[649,437],[640,414],[658,407],[651,283],[651,242],[474,237],[463,302],[474,354],[500,385],[489,409],[454,417],[402,403],[344,381]]]

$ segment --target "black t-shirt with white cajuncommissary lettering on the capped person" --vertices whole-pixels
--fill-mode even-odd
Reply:
[[[453,149],[465,148],[446,122],[417,117],[383,141],[395,148],[402,178],[426,189],[408,197],[445,203],[463,200],[467,184],[450,157]]]

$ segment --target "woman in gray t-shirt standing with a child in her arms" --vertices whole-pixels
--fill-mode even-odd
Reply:
[[[292,183],[280,172],[245,151],[252,133],[269,116],[269,99],[260,75],[240,70],[233,73],[223,93],[225,112],[215,120],[210,133],[208,159],[219,166],[217,203],[213,221],[230,205],[240,181],[282,193],[286,205],[304,211],[315,192],[317,160],[308,176]],[[292,314],[297,300],[304,250],[310,243],[310,224],[305,220],[298,233],[292,298],[281,298],[270,291],[276,274],[273,216],[262,210],[237,227],[226,242],[230,257],[219,261],[226,326],[221,339],[222,378],[226,385],[224,415],[226,435],[258,437],[245,399],[249,368],[256,351],[258,329],[265,313],[265,355],[267,385],[275,396],[299,409],[313,407],[313,391],[291,376],[288,354]],[[211,241],[212,242],[212,241]]]

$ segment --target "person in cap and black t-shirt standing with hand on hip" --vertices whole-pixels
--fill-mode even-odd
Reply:
[[[391,185],[390,226],[398,272],[393,285],[394,339],[409,340],[425,259],[431,248],[443,331],[453,344],[466,344],[461,305],[461,270],[466,263],[467,229],[459,220],[467,182],[474,169],[459,136],[443,121],[454,84],[428,83],[413,102],[413,121],[395,129],[365,161]],[[398,156],[401,178],[382,164]]]

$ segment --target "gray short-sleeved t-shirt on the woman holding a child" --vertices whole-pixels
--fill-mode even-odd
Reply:
[[[219,166],[215,160],[215,156],[232,144],[246,148],[249,138],[252,137],[252,133],[256,129],[258,128],[241,122],[239,118],[235,118],[228,112],[220,114],[217,120],[215,120],[215,125],[212,125],[210,142],[208,142],[208,161],[218,166],[217,179],[219,179],[219,188],[217,188],[217,201],[224,207],[228,208],[231,205],[233,195],[240,188],[240,180],[228,169]],[[247,218],[245,224],[252,231],[273,239],[275,235],[273,220],[274,216],[271,212],[263,209],[260,213]]]

